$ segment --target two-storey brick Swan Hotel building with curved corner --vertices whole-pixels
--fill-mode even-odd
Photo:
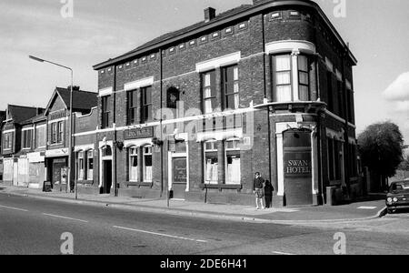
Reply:
[[[357,61],[312,1],[254,0],[162,35],[98,72],[100,193],[274,206],[362,194]],[[81,190],[81,188],[80,188]]]

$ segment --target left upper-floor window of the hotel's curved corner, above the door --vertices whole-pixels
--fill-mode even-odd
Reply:
[[[275,101],[292,101],[291,56],[274,56]]]

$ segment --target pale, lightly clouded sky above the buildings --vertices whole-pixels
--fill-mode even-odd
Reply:
[[[409,1],[315,2],[358,59],[357,133],[389,120],[409,144]],[[252,0],[1,0],[0,109],[45,107],[55,86],[70,85],[68,71],[29,55],[73,67],[75,85],[96,92],[92,66],[203,20],[208,6],[220,13],[243,4]]]

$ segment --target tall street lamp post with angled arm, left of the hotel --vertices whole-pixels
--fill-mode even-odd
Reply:
[[[70,87],[70,111],[69,111],[69,123],[70,123],[70,127],[69,127],[69,141],[68,141],[68,185],[67,187],[71,188],[71,172],[72,172],[72,161],[73,161],[73,85],[74,85],[74,70],[71,67],[68,66],[62,66],[59,64],[56,64],[54,62],[50,62],[47,61],[45,59],[42,58],[38,58],[35,56],[29,56],[30,59],[35,60],[37,62],[40,63],[48,63],[54,66],[60,66],[63,67],[65,69],[70,70],[71,72],[71,87]],[[75,179],[75,199],[78,199],[78,189],[77,189],[77,183],[76,183],[76,179]],[[68,189],[67,189],[68,191]]]

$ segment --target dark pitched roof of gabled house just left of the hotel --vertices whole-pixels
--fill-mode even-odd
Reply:
[[[70,89],[69,88],[55,88],[56,93],[63,99],[67,109],[70,107]],[[95,92],[73,90],[73,109],[91,110],[97,106],[97,96]]]

